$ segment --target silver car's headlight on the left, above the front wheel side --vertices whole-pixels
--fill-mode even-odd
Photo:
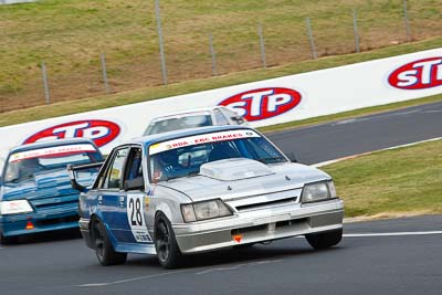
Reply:
[[[221,200],[181,204],[181,212],[186,222],[222,218],[233,214]]]

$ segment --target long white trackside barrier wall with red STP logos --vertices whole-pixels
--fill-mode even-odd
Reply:
[[[441,94],[441,60],[440,48],[6,126],[0,128],[0,149],[49,138],[88,137],[108,154],[116,145],[141,136],[152,118],[186,109],[227,105],[252,127],[261,127]]]

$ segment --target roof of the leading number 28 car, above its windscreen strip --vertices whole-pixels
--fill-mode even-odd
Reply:
[[[141,144],[150,146],[152,144],[162,143],[171,139],[177,139],[181,137],[188,137],[200,134],[208,133],[218,133],[218,131],[227,131],[227,130],[238,130],[238,129],[251,129],[250,127],[238,126],[238,125],[225,125],[225,126],[207,126],[207,127],[197,127],[190,129],[180,129],[175,131],[161,133],[161,134],[152,134],[144,137],[134,138],[126,144]]]

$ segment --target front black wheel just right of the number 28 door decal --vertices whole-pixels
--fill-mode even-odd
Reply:
[[[155,218],[155,249],[159,264],[165,268],[177,267],[182,262],[173,229],[162,213],[158,213]]]

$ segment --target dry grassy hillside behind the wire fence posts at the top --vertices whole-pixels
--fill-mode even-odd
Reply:
[[[168,82],[212,75],[209,34],[217,73],[262,66],[262,25],[267,66],[312,59],[306,18],[317,56],[356,52],[354,10],[360,51],[441,36],[440,0],[160,0]],[[110,89],[160,85],[155,1],[39,0],[0,6],[0,112],[44,104],[44,61],[51,101],[105,93],[101,53]]]

